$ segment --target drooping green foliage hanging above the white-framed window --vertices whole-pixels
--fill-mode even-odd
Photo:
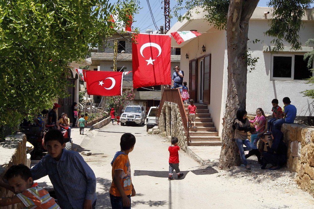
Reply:
[[[299,41],[300,27],[303,25],[302,16],[310,8],[312,0],[284,1],[270,0],[269,7],[273,7],[273,19],[270,29],[265,35],[273,37],[274,51],[284,49],[283,41],[291,44],[292,50],[300,50],[302,43]]]

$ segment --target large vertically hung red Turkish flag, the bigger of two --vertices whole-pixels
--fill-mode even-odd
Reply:
[[[132,43],[133,88],[171,85],[170,35],[138,34]]]

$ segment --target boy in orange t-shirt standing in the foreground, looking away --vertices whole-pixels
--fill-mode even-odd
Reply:
[[[112,183],[109,193],[112,208],[131,208],[131,197],[135,196],[135,189],[128,154],[133,151],[134,145],[134,135],[123,134],[120,140],[121,151],[116,152],[111,161]]]

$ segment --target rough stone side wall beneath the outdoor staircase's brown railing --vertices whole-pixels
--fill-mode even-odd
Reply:
[[[178,146],[186,152],[187,137],[178,105],[176,103],[165,102],[158,120],[160,134],[164,137],[177,137],[179,139]]]

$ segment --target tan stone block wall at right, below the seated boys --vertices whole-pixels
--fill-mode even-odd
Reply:
[[[295,172],[298,185],[314,196],[314,127],[283,124],[287,144],[287,168]]]

